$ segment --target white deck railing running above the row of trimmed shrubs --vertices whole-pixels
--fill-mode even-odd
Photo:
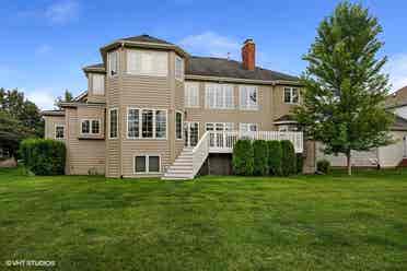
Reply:
[[[257,132],[209,131],[209,152],[210,153],[231,153],[233,151],[234,144],[240,139],[290,140],[292,144],[294,145],[295,153],[303,152],[302,132],[278,132],[278,131],[257,131]]]

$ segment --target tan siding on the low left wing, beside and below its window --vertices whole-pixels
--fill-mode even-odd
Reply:
[[[71,175],[86,175],[90,172],[105,173],[105,142],[104,140],[79,139],[79,119],[86,115],[86,109],[75,108],[66,109],[66,120],[68,123],[68,163],[67,173]],[[90,110],[89,114],[93,114]],[[102,116],[101,116],[102,117]]]

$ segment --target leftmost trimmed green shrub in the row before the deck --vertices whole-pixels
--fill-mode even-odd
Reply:
[[[251,176],[254,170],[254,151],[251,140],[237,140],[233,148],[233,172],[236,175]]]

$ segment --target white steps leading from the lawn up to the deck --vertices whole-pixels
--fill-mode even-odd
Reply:
[[[161,179],[183,180],[194,179],[194,156],[191,148],[184,148]]]

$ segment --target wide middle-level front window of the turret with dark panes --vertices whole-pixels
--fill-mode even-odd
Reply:
[[[166,110],[139,109],[127,110],[128,139],[166,139]]]

